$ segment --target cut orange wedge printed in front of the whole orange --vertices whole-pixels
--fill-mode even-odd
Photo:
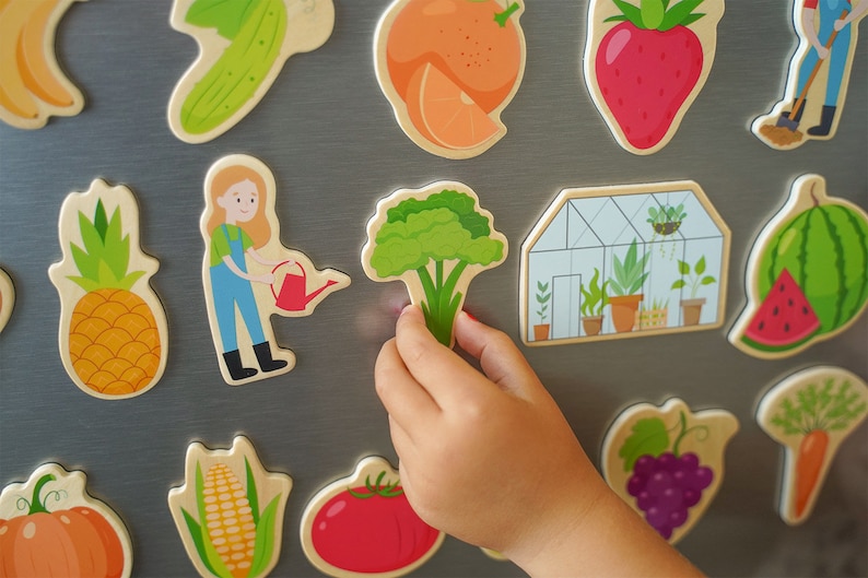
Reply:
[[[407,114],[424,138],[445,149],[473,149],[502,132],[460,86],[431,63],[421,66],[410,79]]]

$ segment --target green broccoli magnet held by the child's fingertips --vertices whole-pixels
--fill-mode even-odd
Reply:
[[[399,189],[367,222],[362,267],[373,281],[403,281],[427,328],[444,345],[470,282],[506,259],[506,237],[470,187],[441,180]]]

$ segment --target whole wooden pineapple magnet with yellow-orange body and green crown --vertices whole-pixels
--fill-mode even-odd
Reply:
[[[160,380],[168,326],[151,288],[156,259],[139,244],[132,191],[96,179],[60,209],[63,259],[48,270],[60,295],[60,357],[82,391],[131,398]]]

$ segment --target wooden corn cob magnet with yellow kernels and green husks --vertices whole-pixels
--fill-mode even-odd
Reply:
[[[200,576],[260,578],[280,557],[292,477],[269,472],[250,440],[230,449],[187,448],[185,483],[168,492],[168,508]]]

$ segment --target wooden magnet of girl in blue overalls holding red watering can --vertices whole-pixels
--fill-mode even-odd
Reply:
[[[295,366],[293,352],[277,345],[271,315],[310,315],[350,284],[340,271],[319,271],[281,245],[275,196],[273,174],[253,156],[224,156],[204,180],[202,283],[220,371],[233,386]]]

